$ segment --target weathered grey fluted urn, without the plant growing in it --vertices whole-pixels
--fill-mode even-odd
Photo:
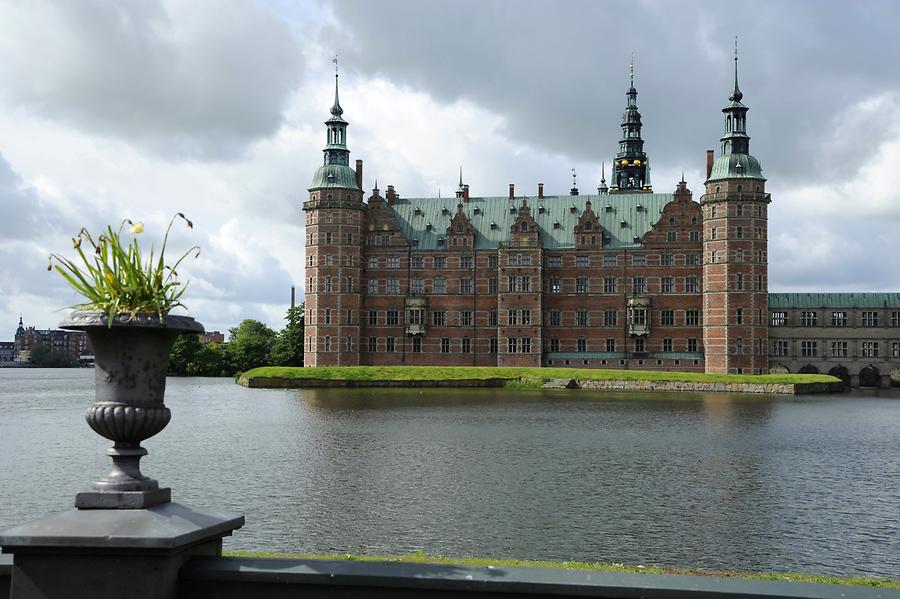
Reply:
[[[141,474],[147,455],[141,441],[166,427],[165,406],[169,352],[182,333],[202,333],[203,325],[188,316],[77,311],[60,323],[63,329],[87,333],[96,360],[96,396],[85,416],[94,431],[113,441],[107,450],[113,469],[79,493],[79,509],[140,509],[168,503],[171,490]]]

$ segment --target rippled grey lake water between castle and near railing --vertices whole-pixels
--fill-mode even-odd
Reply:
[[[91,370],[0,370],[0,529],[105,474]],[[258,390],[169,379],[144,443],[227,549],[900,577],[900,395]]]

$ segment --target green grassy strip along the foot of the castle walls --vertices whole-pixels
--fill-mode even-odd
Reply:
[[[826,374],[704,374],[599,368],[501,368],[494,366],[266,366],[248,370],[242,378],[311,379],[323,381],[452,381],[506,379],[510,386],[540,387],[551,379],[578,381],[686,381],[701,383],[834,383]]]

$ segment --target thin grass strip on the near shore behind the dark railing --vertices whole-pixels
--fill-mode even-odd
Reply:
[[[447,564],[456,566],[491,566],[494,568],[528,567],[556,568],[561,570],[584,570],[589,572],[614,572],[618,574],[671,574],[678,576],[720,576],[723,578],[744,578],[750,580],[777,580],[789,582],[811,582],[816,584],[845,584],[879,588],[900,589],[900,580],[890,578],[864,578],[860,576],[840,577],[819,574],[801,574],[797,572],[732,572],[730,570],[700,570],[693,568],[672,568],[668,566],[626,566],[625,564],[606,564],[600,562],[550,562],[513,559],[487,559],[475,557],[433,557],[424,553],[412,553],[401,556],[352,555],[340,554],[283,554],[283,553],[248,553],[243,551],[225,552],[231,557],[263,557],[290,559],[318,559],[369,562],[404,562],[411,564]]]

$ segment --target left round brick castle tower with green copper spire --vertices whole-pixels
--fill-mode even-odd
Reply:
[[[337,59],[335,59],[337,65]],[[306,213],[305,366],[359,364],[362,283],[362,161],[350,168],[347,121],[338,99],[325,121],[322,166],[309,187]]]

